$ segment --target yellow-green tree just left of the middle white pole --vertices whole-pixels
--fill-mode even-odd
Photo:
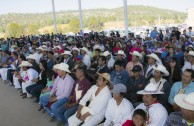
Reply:
[[[73,18],[69,22],[69,26],[70,26],[71,32],[78,33],[80,31],[80,23],[79,23],[79,20],[77,18]]]

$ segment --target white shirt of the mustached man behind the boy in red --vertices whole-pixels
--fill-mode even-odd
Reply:
[[[136,109],[143,109],[146,111],[146,106],[144,105],[144,103],[141,103],[135,108],[135,110]],[[147,124],[146,126],[164,126],[166,124],[168,113],[164,106],[162,106],[162,104],[152,104],[148,111],[150,118],[149,124]],[[132,120],[133,112],[130,114],[129,120]]]

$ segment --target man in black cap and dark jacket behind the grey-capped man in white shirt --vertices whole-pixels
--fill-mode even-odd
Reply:
[[[142,102],[141,95],[137,91],[143,90],[146,86],[147,80],[141,75],[142,68],[135,65],[132,69],[132,76],[129,78],[129,87],[127,87],[127,98],[134,105],[137,106]]]

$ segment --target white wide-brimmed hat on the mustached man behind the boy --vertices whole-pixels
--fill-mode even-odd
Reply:
[[[164,94],[164,92],[159,91],[156,84],[149,83],[144,90],[138,91],[137,94]]]

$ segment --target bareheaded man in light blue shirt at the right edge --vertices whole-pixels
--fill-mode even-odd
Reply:
[[[191,69],[186,69],[183,72],[182,81],[173,84],[170,90],[168,102],[173,105],[174,110],[180,110],[180,108],[174,102],[174,97],[177,94],[189,94],[191,92],[194,92],[194,82],[192,82],[193,78],[194,71]]]

